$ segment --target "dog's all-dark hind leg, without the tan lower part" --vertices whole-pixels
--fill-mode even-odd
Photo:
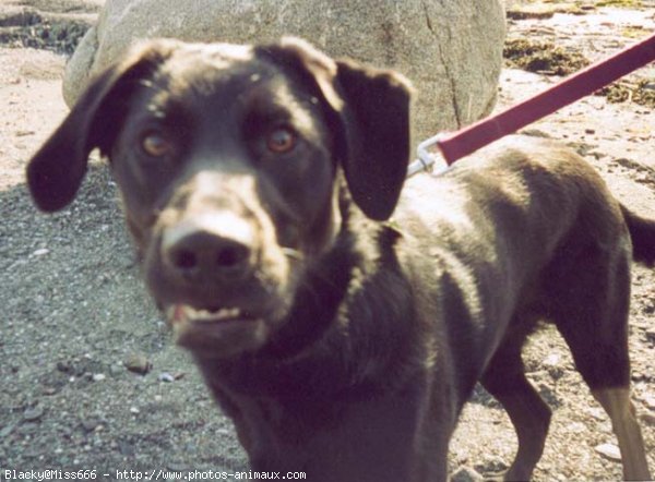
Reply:
[[[519,437],[514,462],[505,480],[529,480],[541,458],[550,425],[550,408],[525,377],[519,340],[507,340],[495,353],[483,378],[483,386],[507,410]]]

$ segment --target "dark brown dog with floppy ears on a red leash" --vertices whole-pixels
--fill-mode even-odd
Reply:
[[[575,154],[514,137],[412,178],[410,89],[297,39],[157,40],[94,82],[31,160],[69,204],[98,147],[144,276],[252,468],[311,481],[446,479],[481,382],[528,479],[550,410],[521,349],[553,323],[611,418],[624,475],[650,479],[629,398],[632,258],[655,221]]]

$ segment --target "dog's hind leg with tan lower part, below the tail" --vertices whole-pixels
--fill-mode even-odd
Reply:
[[[630,265],[620,253],[587,250],[584,264],[564,260],[549,286],[550,315],[575,366],[612,424],[626,480],[651,480],[644,442],[630,400],[628,316]],[[571,269],[563,268],[572,266]],[[565,280],[565,282],[561,282]],[[559,281],[559,282],[558,282]]]

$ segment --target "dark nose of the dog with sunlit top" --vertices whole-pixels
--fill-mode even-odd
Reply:
[[[162,256],[168,269],[187,279],[241,278],[253,266],[254,229],[229,213],[186,218],[164,231]]]

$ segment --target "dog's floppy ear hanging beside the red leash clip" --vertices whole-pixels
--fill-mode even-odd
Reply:
[[[409,82],[392,71],[334,61],[293,37],[260,51],[309,74],[333,113],[335,147],[353,200],[368,217],[388,219],[409,162]]]

